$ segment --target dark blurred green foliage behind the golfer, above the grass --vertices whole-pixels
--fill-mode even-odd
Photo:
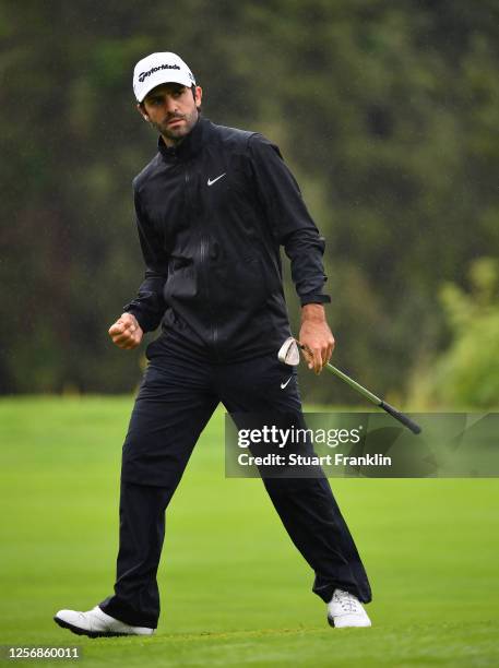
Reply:
[[[440,286],[497,255],[498,33],[492,0],[2,1],[0,393],[140,378],[143,350],[107,336],[141,282],[131,180],[156,141],[131,72],[173,50],[205,116],[263,132],[295,171],[328,240],[338,366],[406,397],[449,345]]]

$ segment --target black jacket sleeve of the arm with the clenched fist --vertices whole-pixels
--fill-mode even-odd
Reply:
[[[139,194],[134,190],[136,226],[142,255],[145,263],[145,277],[139,287],[138,296],[123,311],[132,313],[144,332],[154,331],[161,323],[167,305],[163,288],[168,277],[168,258],[163,250],[163,241],[142,211]]]

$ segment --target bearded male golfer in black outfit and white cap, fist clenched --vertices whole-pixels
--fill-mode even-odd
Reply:
[[[120,348],[159,323],[123,445],[115,595],[55,621],[90,636],[151,635],[165,510],[213,410],[269,411],[302,424],[277,350],[289,333],[280,246],[301,301],[300,342],[319,373],[334,339],[322,294],[323,239],[278,148],[254,132],[200,116],[202,90],[175,53],[134,70],[138,109],[159,132],[158,153],[134,179],[145,281],[110,327]],[[292,540],[316,573],[313,592],[335,627],[368,627],[369,582],[328,480],[265,478]]]

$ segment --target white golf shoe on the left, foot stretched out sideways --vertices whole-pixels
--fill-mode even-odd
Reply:
[[[124,622],[103,612],[98,606],[86,612],[59,610],[54,621],[76,635],[88,637],[111,637],[115,635],[152,635],[155,629],[129,627]]]

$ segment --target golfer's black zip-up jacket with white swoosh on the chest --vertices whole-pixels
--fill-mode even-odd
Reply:
[[[133,181],[146,271],[124,307],[158,345],[218,361],[277,351],[289,336],[280,246],[301,303],[326,302],[324,241],[274,144],[201,118]]]

